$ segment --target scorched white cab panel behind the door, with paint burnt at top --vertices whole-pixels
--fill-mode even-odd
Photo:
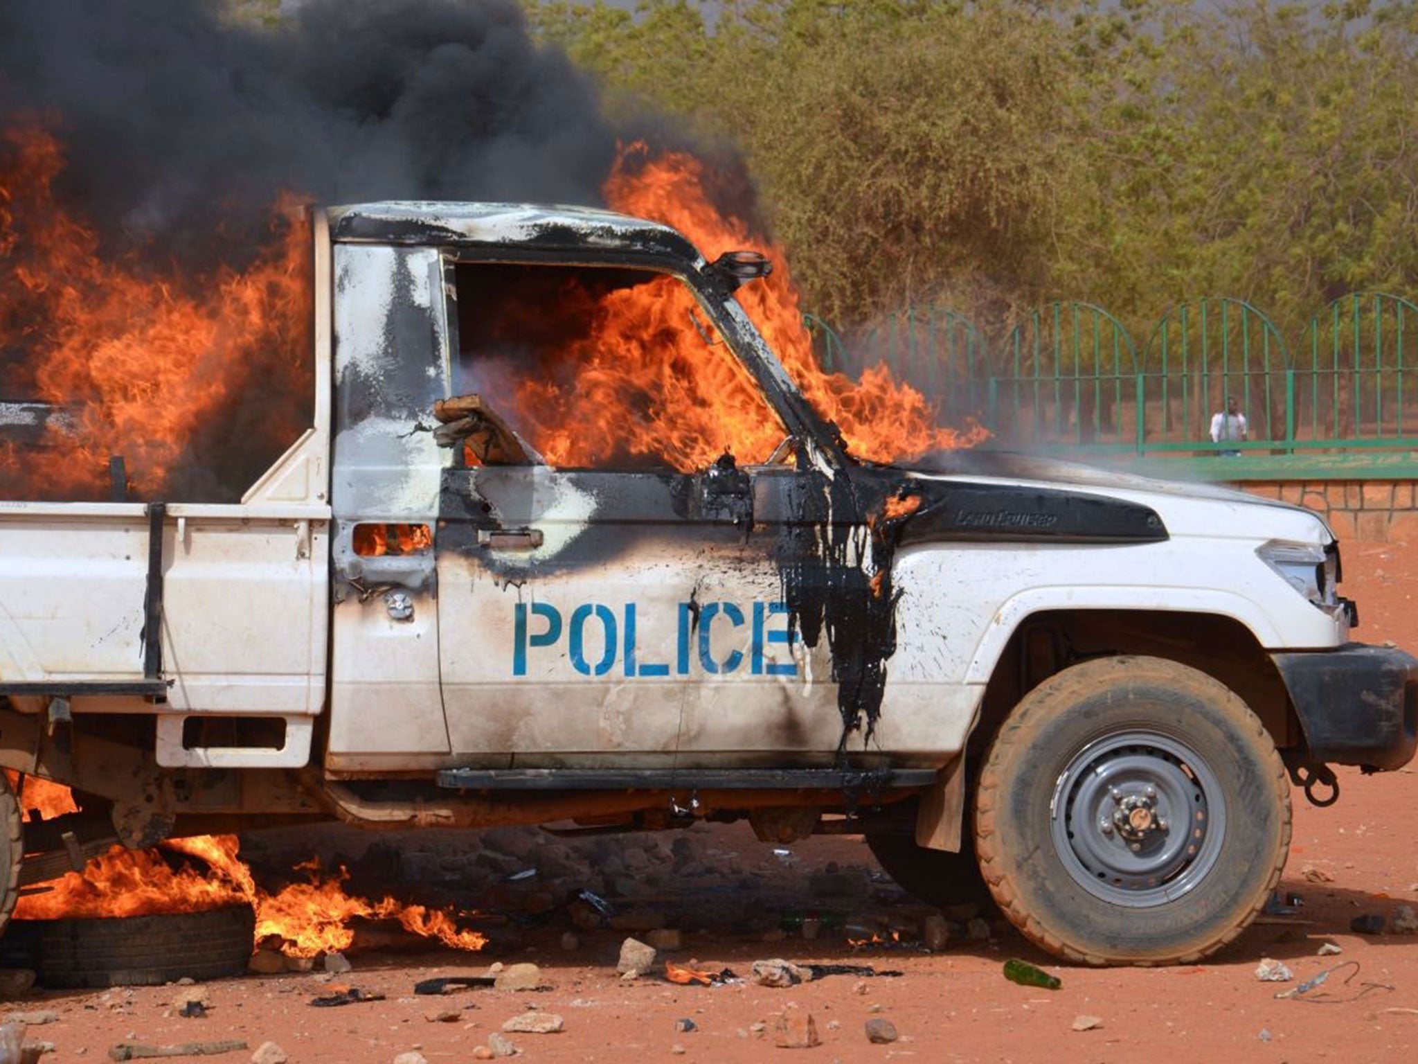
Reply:
[[[448,453],[442,262],[430,247],[335,247],[335,610],[328,765],[442,753],[432,550],[362,556],[360,522],[434,528]],[[403,600],[391,602],[401,594]]]

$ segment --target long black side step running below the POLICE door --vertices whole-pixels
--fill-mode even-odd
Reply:
[[[457,790],[885,790],[929,787],[936,769],[444,769]]]

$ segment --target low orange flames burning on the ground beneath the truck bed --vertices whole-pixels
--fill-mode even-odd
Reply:
[[[34,776],[26,777],[24,793],[34,783],[45,785],[34,793],[47,800],[68,789]],[[55,811],[72,811],[54,802]],[[143,916],[159,912],[199,912],[223,905],[247,904],[255,908],[255,941],[282,941],[282,952],[291,956],[315,956],[349,948],[354,941],[350,922],[363,919],[396,919],[403,928],[423,938],[437,939],[454,949],[481,949],[486,943],[476,931],[458,928],[454,918],[423,905],[404,905],[394,898],[369,901],[346,894],[347,874],[320,878],[318,867],[302,865],[311,872],[306,882],[292,882],[275,894],[261,890],[251,870],[237,857],[235,836],[200,836],[164,843],[167,850],[201,858],[210,870],[197,871],[190,865],[173,867],[157,850],[125,850],[115,846],[102,857],[89,861],[82,872],[69,872],[52,884],[51,890],[27,894],[16,904],[18,919],[62,919],[77,916]]]

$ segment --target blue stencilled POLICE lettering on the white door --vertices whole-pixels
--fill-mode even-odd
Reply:
[[[732,675],[747,671],[756,677],[795,677],[797,663],[791,660],[797,630],[788,607],[781,602],[754,602],[747,610],[732,602],[675,603],[675,661],[647,661],[641,658],[640,640],[642,613],[638,603],[625,603],[620,614],[604,603],[581,603],[563,623],[562,610],[550,603],[516,603],[512,614],[512,675],[527,675],[530,651],[554,648],[545,660],[554,667],[557,660],[569,661],[584,677],[604,677],[621,664],[623,675],[688,677],[699,671],[708,675]],[[535,620],[545,626],[539,631]],[[747,628],[749,650],[729,650],[715,655],[715,634],[720,638]],[[696,633],[698,631],[698,637]],[[566,634],[566,645],[560,647]],[[587,657],[587,647],[591,657]],[[771,647],[786,647],[788,661],[770,660]],[[596,654],[596,648],[600,650]],[[747,668],[744,665],[747,664]]]

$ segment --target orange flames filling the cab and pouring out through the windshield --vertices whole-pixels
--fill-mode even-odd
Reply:
[[[703,163],[689,155],[651,159],[635,143],[624,149],[605,183],[617,210],[666,223],[708,258],[754,250],[773,272],[739,289],[737,298],[808,400],[837,421],[851,450],[878,461],[929,450],[967,447],[987,433],[936,426],[936,411],[885,365],[859,382],[825,373],[803,325],[798,294],[781,248],[759,240],[749,224],[722,214],[709,199]],[[519,384],[516,409],[532,444],[553,465],[591,465],[617,451],[652,455],[681,471],[705,468],[732,447],[740,460],[761,461],[786,430],[746,370],[730,358],[689,291],[674,278],[620,288],[591,302],[562,294],[563,314],[591,322],[588,333],[559,352],[574,379],[557,375]]]

